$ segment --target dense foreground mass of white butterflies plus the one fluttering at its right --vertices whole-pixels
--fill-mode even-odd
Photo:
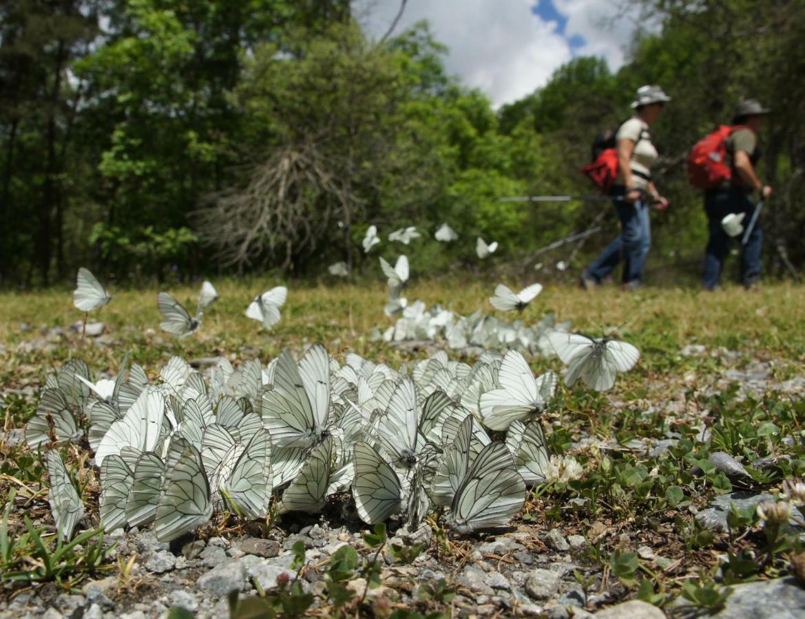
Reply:
[[[625,342],[547,337],[570,365],[568,384],[605,387],[638,358]],[[205,379],[173,357],[151,382],[124,359],[116,379],[93,382],[73,359],[47,377],[26,441],[47,449],[81,441],[86,428],[105,530],[153,522],[163,541],[217,511],[264,519],[275,503],[279,513],[318,513],[345,492],[365,523],[401,514],[418,527],[440,506],[466,533],[505,526],[526,486],[545,481],[539,414],[553,372],[535,378],[516,350],[485,352],[473,366],[440,351],[398,371],[359,355],[345,361],[315,344],[298,362],[283,350],[266,367],[221,358]],[[45,462],[56,528],[69,539],[81,497],[56,450]]]

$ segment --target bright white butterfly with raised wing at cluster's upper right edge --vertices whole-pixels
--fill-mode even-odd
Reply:
[[[545,408],[556,389],[551,372],[534,378],[526,359],[517,350],[503,357],[497,373],[500,388],[481,394],[481,418],[488,428],[506,430],[514,420],[523,420]]]

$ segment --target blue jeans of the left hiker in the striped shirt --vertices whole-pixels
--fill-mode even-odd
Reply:
[[[635,203],[624,202],[621,198],[625,187],[613,187],[610,195],[621,220],[621,234],[607,245],[601,255],[587,267],[587,274],[597,283],[612,273],[623,258],[623,283],[640,285],[643,277],[643,264],[646,264],[651,248],[651,224],[649,205],[642,199]]]

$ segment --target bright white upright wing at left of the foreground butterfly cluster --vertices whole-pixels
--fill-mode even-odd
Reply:
[[[139,451],[155,449],[165,418],[165,399],[154,387],[143,390],[137,401],[122,419],[114,421],[95,452],[95,463],[100,466],[110,453],[120,453],[124,447]]]

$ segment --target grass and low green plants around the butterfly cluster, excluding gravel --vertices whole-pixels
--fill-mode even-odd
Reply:
[[[316,341],[324,342],[336,356],[355,350],[394,366],[425,356],[421,351],[395,350],[369,341],[367,334],[374,326],[391,324],[382,313],[385,286],[380,283],[372,287],[291,285],[282,322],[270,333],[243,312],[256,293],[280,282],[215,283],[220,300],[204,314],[200,331],[183,340],[159,330],[156,289],[111,290],[113,301],[90,318],[105,322],[107,332],[100,340],[82,340],[79,333],[68,330],[83,318],[72,307],[68,290],[0,295],[5,428],[22,426],[35,408],[47,372],[72,357],[85,359],[97,373],[116,371],[127,350],[133,361],[151,372],[158,371],[170,355],[185,359],[227,355],[233,360],[257,356],[265,364],[283,347],[298,351]],[[486,301],[492,289],[491,283],[447,278],[419,281],[406,296],[427,305],[440,303],[461,314],[478,308],[492,314]],[[195,286],[170,292],[191,310],[195,308]],[[584,477],[539,488],[526,502],[517,526],[536,535],[560,523],[566,535],[585,535],[589,549],[584,561],[588,574],[597,574],[594,587],[601,590],[609,586],[609,580],[619,582],[618,596],[638,595],[659,605],[681,592],[695,605],[715,608],[725,584],[791,572],[791,556],[801,547],[784,531],[772,538],[756,515],[738,514],[736,527],[745,534],[709,534],[697,527],[688,508],[704,507],[717,494],[733,489],[723,473],[707,465],[709,454],[717,451],[744,463],[757,457],[790,457],[778,469],[758,473],[753,486],[758,490],[774,491],[783,478],[805,470],[801,396],[771,388],[745,392],[740,375],[734,373],[761,363],[768,372],[769,387],[805,375],[803,307],[805,287],[791,284],[766,285],[752,293],[737,287],[716,293],[654,288],[626,293],[614,287],[585,293],[548,286],[525,311],[524,321],[535,322],[551,311],[557,320],[569,320],[573,330],[583,333],[618,328],[618,337],[638,346],[642,358],[634,371],[619,375],[613,391],[606,394],[580,387],[561,389],[544,417],[546,427],[553,428],[551,449],[576,457],[584,466]],[[684,354],[683,349],[691,345],[704,346],[704,352]],[[460,355],[451,353],[451,357]],[[473,363],[473,359],[465,360]],[[531,365],[538,372],[561,368],[555,358],[531,359]],[[703,426],[711,432],[710,438],[693,442]],[[679,444],[663,456],[610,449],[636,438],[660,440],[671,431],[679,436]],[[32,486],[39,481],[41,469],[30,462],[27,471],[13,465],[21,457],[28,462],[25,458],[34,454],[24,448],[10,449],[2,441],[0,451],[0,503],[6,503],[14,488],[27,496],[26,506],[45,514],[47,504]],[[691,473],[694,465],[704,469],[703,476]],[[88,470],[81,458],[76,466]],[[88,484],[90,494],[97,492],[97,486],[93,490],[97,479]],[[436,560],[459,566],[469,560],[471,544],[448,539],[438,526],[436,534],[428,550]],[[675,566],[657,569],[638,561],[634,549],[640,544],[654,548]],[[0,551],[10,552],[7,547]],[[717,557],[725,551],[750,565],[741,564],[733,572],[728,569],[729,578],[716,579]],[[14,557],[0,557],[0,564],[8,567]],[[68,586],[76,582],[69,580]]]

